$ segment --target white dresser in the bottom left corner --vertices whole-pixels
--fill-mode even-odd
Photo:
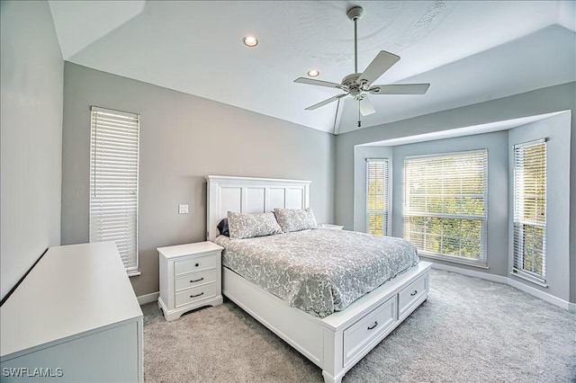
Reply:
[[[3,382],[144,380],[142,311],[113,242],[50,247],[0,325]]]

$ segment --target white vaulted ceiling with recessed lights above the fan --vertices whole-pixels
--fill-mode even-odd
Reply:
[[[388,50],[401,60],[376,84],[431,84],[370,95],[363,128],[576,81],[574,1],[49,1],[67,61],[337,133],[358,129],[356,103],[304,111],[340,91],[293,80],[354,72],[352,5],[359,71]]]

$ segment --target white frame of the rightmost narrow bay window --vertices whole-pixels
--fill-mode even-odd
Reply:
[[[548,209],[548,185],[547,185],[547,180],[548,180],[548,168],[547,168],[547,156],[548,156],[548,152],[547,152],[547,138],[538,138],[538,139],[534,139],[534,140],[530,140],[527,142],[523,142],[523,143],[519,143],[519,144],[515,144],[512,146],[512,162],[513,162],[513,180],[512,180],[512,184],[513,184],[513,191],[512,191],[512,271],[511,274],[512,275],[516,275],[522,279],[525,279],[527,281],[531,281],[534,282],[540,286],[544,286],[546,287],[546,230],[547,230],[547,209]],[[539,164],[540,166],[544,167],[544,177],[545,177],[545,182],[544,182],[544,202],[545,202],[545,215],[544,215],[544,223],[542,222],[530,222],[527,219],[518,219],[518,215],[522,215],[524,216],[524,208],[522,208],[522,211],[519,212],[518,211],[518,207],[519,205],[523,205],[524,203],[520,203],[518,201],[518,156],[517,156],[517,150],[522,148],[526,148],[526,147],[534,147],[534,146],[539,146],[542,145],[544,147],[544,164]],[[525,158],[523,158],[524,160]],[[524,179],[522,181],[525,181]],[[522,201],[524,201],[524,197],[522,197]],[[542,233],[542,274],[538,274],[536,272],[531,272],[529,270],[524,269],[524,267],[522,266],[522,264],[524,263],[524,239],[525,239],[525,232],[524,232],[524,228],[521,230],[521,233],[518,233],[517,231],[517,225],[522,225],[523,227],[526,225],[530,225],[530,226],[535,226],[535,227],[542,227],[543,228],[543,233]],[[521,238],[520,239],[520,244],[518,244],[517,242],[517,235],[521,234]],[[518,254],[517,250],[520,250],[522,253]],[[518,265],[518,263],[520,263]]]

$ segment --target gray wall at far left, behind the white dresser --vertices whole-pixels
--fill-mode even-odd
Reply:
[[[0,3],[0,294],[60,242],[62,54],[47,2]]]

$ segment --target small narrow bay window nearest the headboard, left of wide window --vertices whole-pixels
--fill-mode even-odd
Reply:
[[[366,160],[366,220],[369,234],[388,234],[388,159]]]

